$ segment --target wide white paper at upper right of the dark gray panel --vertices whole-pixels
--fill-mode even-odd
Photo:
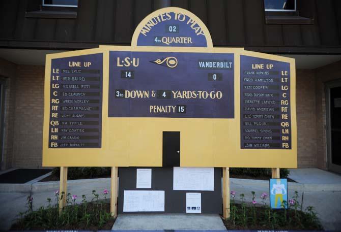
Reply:
[[[214,168],[173,169],[173,190],[214,190]]]

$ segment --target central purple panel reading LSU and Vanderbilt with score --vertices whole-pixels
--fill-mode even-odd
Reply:
[[[109,117],[234,118],[234,54],[109,54]]]

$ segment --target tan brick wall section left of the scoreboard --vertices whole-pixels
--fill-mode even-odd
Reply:
[[[17,66],[14,168],[42,166],[44,72],[43,66]]]

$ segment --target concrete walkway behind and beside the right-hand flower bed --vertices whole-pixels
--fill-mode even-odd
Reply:
[[[304,193],[303,209],[308,206],[315,208],[325,230],[341,228],[341,176],[319,169],[293,169],[289,178],[297,183],[288,183],[288,197],[298,192],[301,203]],[[309,175],[308,175],[309,174]],[[311,178],[309,178],[309,176]],[[245,194],[245,201],[252,201],[251,191],[255,191],[256,201],[261,203],[261,194],[269,194],[269,181],[233,179],[230,190],[236,191],[236,200],[241,193]]]

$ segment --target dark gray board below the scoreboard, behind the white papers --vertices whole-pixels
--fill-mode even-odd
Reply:
[[[123,212],[124,190],[163,190],[164,212],[132,212],[132,213],[186,213],[186,192],[201,192],[202,213],[221,214],[221,168],[214,168],[214,191],[173,190],[173,167],[151,168],[152,188],[136,188],[136,169],[119,168],[118,213]]]

